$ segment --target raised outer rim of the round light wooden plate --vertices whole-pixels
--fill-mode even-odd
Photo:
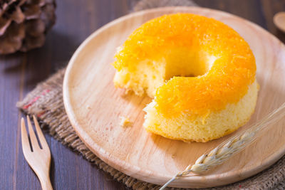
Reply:
[[[90,135],[88,133],[84,132],[84,130],[81,129],[80,125],[78,125],[78,122],[74,119],[76,115],[74,114],[73,109],[72,109],[71,104],[70,104],[71,100],[70,100],[70,96],[68,94],[68,91],[69,91],[68,78],[71,75],[71,69],[73,67],[73,64],[75,64],[76,58],[78,58],[81,51],[83,51],[83,49],[88,45],[88,43],[90,43],[90,41],[92,41],[93,38],[95,38],[101,32],[105,31],[105,29],[108,29],[117,23],[128,20],[133,16],[140,16],[142,14],[145,14],[146,12],[147,13],[156,12],[156,11],[165,11],[166,12],[166,11],[172,11],[173,9],[177,9],[177,11],[187,11],[187,10],[198,9],[198,10],[202,10],[202,11],[214,11],[219,15],[230,16],[232,18],[242,20],[242,21],[244,21],[244,23],[247,23],[251,26],[254,26],[259,31],[262,31],[264,34],[266,34],[266,36],[270,36],[270,38],[273,39],[274,41],[281,43],[281,41],[279,41],[279,39],[276,38],[276,36],[269,33],[269,31],[266,31],[261,26],[258,26],[257,23],[253,23],[252,21],[248,21],[247,19],[243,19],[242,17],[236,16],[234,14],[229,14],[225,11],[219,11],[216,9],[208,9],[208,8],[202,8],[202,7],[194,7],[194,6],[189,6],[189,7],[187,7],[187,6],[167,6],[167,7],[160,7],[160,8],[155,8],[155,9],[146,9],[143,11],[134,12],[132,14],[127,14],[125,16],[121,16],[118,19],[110,21],[109,23],[105,24],[104,26],[98,28],[96,31],[91,33],[90,36],[88,36],[88,38],[86,38],[86,40],[84,40],[83,43],[81,43],[81,45],[76,49],[75,53],[73,53],[73,56],[71,57],[71,60],[68,62],[68,66],[66,68],[66,73],[65,73],[64,78],[63,78],[63,104],[64,104],[64,107],[66,110],[66,114],[68,115],[68,119],[70,120],[71,125],[72,125],[73,129],[76,131],[76,134],[78,135],[78,137],[83,141],[84,144],[86,144],[86,147],[88,147],[88,149],[90,149],[98,158],[103,160],[103,162],[105,162],[106,164],[110,165],[110,167],[117,169],[118,171],[120,171],[120,167],[123,165],[125,168],[128,168],[128,171],[130,171],[129,172],[130,174],[124,173],[123,171],[120,171],[120,172],[127,174],[128,176],[132,176],[135,179],[140,179],[142,181],[145,181],[145,180],[142,179],[141,177],[137,177],[138,171],[140,171],[139,176],[147,176],[149,174],[152,174],[152,175],[159,176],[160,179],[162,179],[164,181],[171,179],[172,176],[160,174],[156,171],[149,171],[147,169],[142,169],[142,168],[135,166],[133,164],[129,164],[128,162],[125,162],[121,159],[113,157],[113,155],[110,152],[106,152],[105,149],[103,149],[98,144],[93,142],[92,137],[90,137]],[[284,52],[285,52],[285,46],[283,43],[281,43],[280,48],[283,48]],[[81,134],[83,134],[83,133],[86,137],[81,136]],[[90,144],[93,144],[93,146],[95,145],[96,148],[94,149],[93,147],[90,146]],[[264,159],[264,162],[262,162],[262,165],[259,165],[256,167],[251,167],[251,169],[245,170],[245,171],[243,171],[243,169],[239,169],[239,170],[235,170],[235,171],[224,172],[222,174],[226,175],[226,177],[222,178],[223,181],[227,181],[227,180],[233,179],[233,178],[237,179],[234,181],[230,180],[229,183],[224,183],[224,184],[231,184],[233,182],[240,181],[242,179],[246,179],[249,176],[253,176],[254,174],[259,173],[260,171],[263,171],[264,169],[266,169],[266,168],[270,167],[272,164],[274,164],[284,154],[285,154],[285,144],[284,144],[282,149],[279,149],[279,151],[274,152],[273,154],[271,154],[270,157],[267,157],[266,159]],[[105,159],[106,156],[108,157],[108,160]],[[118,164],[118,163],[121,163],[121,164]],[[255,165],[257,165],[257,164],[255,164]],[[241,176],[240,173],[242,173],[243,176]],[[195,183],[197,181],[202,181],[202,180],[204,181],[205,179],[209,180],[209,182],[217,181],[217,174],[210,174],[207,176],[187,176],[187,177],[179,179],[177,181],[185,184],[185,182]],[[155,181],[147,181],[147,182],[158,184],[158,183],[155,183]],[[161,185],[161,184],[159,184],[159,185]],[[173,184],[173,185],[170,184],[170,186],[177,187],[177,185],[175,185],[175,184]],[[207,187],[209,187],[209,186],[207,186]]]

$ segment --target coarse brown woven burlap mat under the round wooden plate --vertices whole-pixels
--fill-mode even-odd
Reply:
[[[188,0],[142,0],[134,6],[133,11],[155,8],[159,6],[197,6]],[[63,106],[62,84],[65,68],[58,70],[43,83],[28,93],[24,100],[17,103],[22,111],[28,115],[36,115],[42,126],[48,128],[49,133],[62,144],[79,152],[88,162],[97,165],[100,169],[108,172],[117,181],[122,182],[132,189],[158,189],[159,186],[149,184],[108,166],[91,152],[79,139],[68,120]],[[169,188],[174,189],[174,188]],[[227,186],[211,189],[285,189],[285,156],[279,159],[273,166],[249,179],[239,181]]]

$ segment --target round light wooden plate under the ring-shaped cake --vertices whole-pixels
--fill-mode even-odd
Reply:
[[[164,184],[209,149],[227,139],[186,143],[147,133],[142,108],[151,100],[113,85],[110,63],[116,48],[142,23],[163,14],[189,12],[227,23],[249,43],[257,61],[260,84],[257,108],[249,124],[285,102],[285,48],[270,33],[237,16],[197,7],[168,7],[123,16],[95,31],[71,58],[63,82],[68,117],[83,142],[111,167],[142,181]],[[151,51],[151,50],[150,50]],[[120,127],[120,116],[133,127]],[[202,176],[177,179],[170,186],[209,187],[247,178],[269,167],[285,153],[284,121],[264,132],[254,144]]]

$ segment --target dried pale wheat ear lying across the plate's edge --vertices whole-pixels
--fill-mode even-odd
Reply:
[[[190,173],[202,174],[205,171],[212,169],[212,167],[222,164],[233,154],[237,154],[249,144],[254,142],[254,140],[259,137],[259,134],[261,134],[261,130],[264,130],[268,125],[274,124],[274,122],[280,120],[282,117],[284,117],[284,115],[285,103],[271,112],[269,115],[266,115],[266,117],[256,124],[250,126],[248,130],[235,134],[233,137],[227,139],[227,141],[219,144],[218,147],[203,154],[197,159],[195,164],[189,165],[184,171],[181,171],[173,176],[172,179],[167,181],[167,183],[160,188],[160,190],[165,189],[168,184],[181,176],[187,176]]]

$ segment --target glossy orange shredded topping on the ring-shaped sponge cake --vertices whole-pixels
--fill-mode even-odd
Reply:
[[[152,19],[135,30],[115,55],[114,67],[137,70],[151,59],[166,63],[155,93],[157,112],[206,116],[238,102],[255,80],[254,55],[244,39],[220,21],[195,14]]]

